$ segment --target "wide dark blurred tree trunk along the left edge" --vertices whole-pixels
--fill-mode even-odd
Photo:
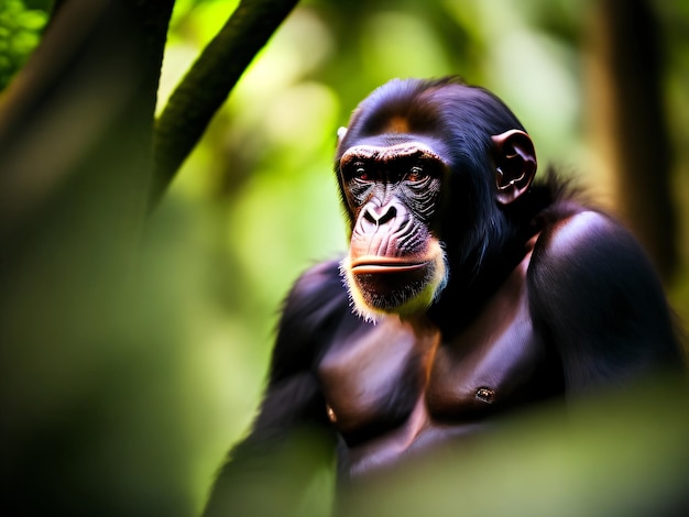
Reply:
[[[62,2],[0,101],[7,515],[127,515],[136,504],[172,515],[166,494],[138,501],[134,471],[117,468],[125,454],[110,452],[131,437],[117,424],[125,406],[111,404],[123,372],[108,342],[146,212],[173,3]]]

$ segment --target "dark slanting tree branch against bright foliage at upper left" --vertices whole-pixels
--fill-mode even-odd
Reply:
[[[173,92],[157,120],[151,207],[206,131],[216,111],[298,0],[241,0]]]

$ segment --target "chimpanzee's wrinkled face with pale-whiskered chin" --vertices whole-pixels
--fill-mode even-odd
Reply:
[[[415,142],[358,145],[340,158],[356,221],[342,271],[363,317],[414,314],[445,283],[445,254],[429,228],[446,168],[431,148]]]

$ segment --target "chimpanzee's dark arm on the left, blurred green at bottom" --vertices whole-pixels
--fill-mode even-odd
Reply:
[[[259,415],[230,451],[206,517],[298,513],[314,472],[333,457],[315,367],[349,310],[337,263],[320,264],[297,280],[285,302]]]

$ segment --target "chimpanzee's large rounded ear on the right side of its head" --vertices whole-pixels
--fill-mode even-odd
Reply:
[[[524,194],[536,174],[536,151],[524,131],[510,130],[491,136],[495,162],[497,202],[508,205]]]

